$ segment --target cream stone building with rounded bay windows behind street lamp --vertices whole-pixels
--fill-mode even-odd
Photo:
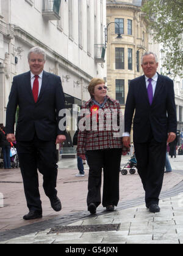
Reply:
[[[107,29],[107,85],[123,111],[129,82],[143,74],[140,61],[148,51],[147,23],[141,6],[142,1],[107,1],[107,25],[111,23]]]

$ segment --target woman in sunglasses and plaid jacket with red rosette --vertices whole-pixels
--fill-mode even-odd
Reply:
[[[77,156],[89,166],[87,206],[91,214],[101,203],[101,173],[104,172],[102,205],[113,211],[119,201],[119,175],[123,146],[121,107],[107,96],[105,81],[93,78],[88,86],[91,99],[81,110]]]

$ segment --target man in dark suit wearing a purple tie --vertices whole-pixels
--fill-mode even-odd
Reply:
[[[173,81],[157,70],[154,53],[142,56],[145,75],[135,78],[129,85],[124,113],[124,146],[131,140],[132,118],[137,169],[145,189],[146,207],[159,212],[159,194],[162,189],[167,142],[176,138],[176,106]]]

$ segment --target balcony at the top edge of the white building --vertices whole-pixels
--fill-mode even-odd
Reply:
[[[47,20],[60,20],[61,0],[43,0],[43,17]]]

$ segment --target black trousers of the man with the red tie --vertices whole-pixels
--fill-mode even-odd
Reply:
[[[43,175],[45,194],[57,195],[57,151],[55,141],[42,141],[36,135],[32,141],[17,141],[17,152],[23,176],[24,192],[29,210],[42,211],[37,169]]]

